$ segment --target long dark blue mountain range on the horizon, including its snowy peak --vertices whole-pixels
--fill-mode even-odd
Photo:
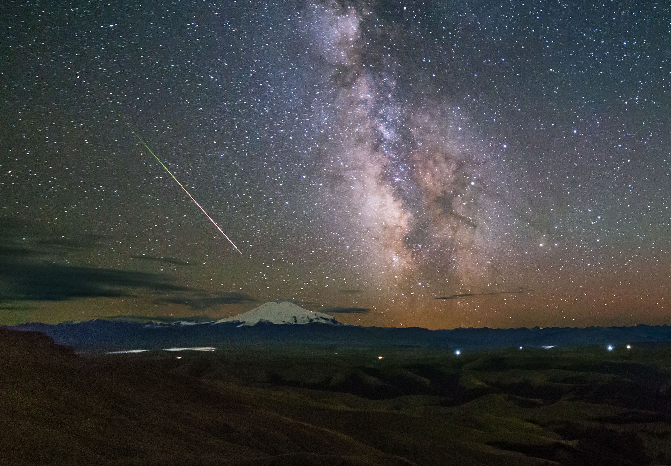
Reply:
[[[127,351],[226,345],[395,345],[442,349],[572,347],[670,342],[668,325],[632,327],[546,327],[540,329],[451,329],[361,327],[290,302],[270,302],[239,316],[213,322],[124,322],[95,319],[60,324],[27,323],[7,329],[42,332],[76,351]]]

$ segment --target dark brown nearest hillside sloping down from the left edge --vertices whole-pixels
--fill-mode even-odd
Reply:
[[[268,410],[236,385],[82,359],[20,334],[0,329],[3,465],[411,464]]]

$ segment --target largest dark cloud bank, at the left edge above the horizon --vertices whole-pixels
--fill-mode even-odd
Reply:
[[[0,302],[130,296],[131,290],[188,290],[158,274],[72,265],[66,253],[77,247],[75,243],[19,239],[13,233],[13,225],[0,224]],[[45,246],[56,251],[37,249]]]

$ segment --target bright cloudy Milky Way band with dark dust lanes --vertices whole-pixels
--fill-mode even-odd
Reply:
[[[491,163],[458,134],[445,79],[417,80],[442,46],[408,58],[403,23],[381,20],[374,6],[310,4],[300,15],[315,64],[311,131],[327,138],[323,156],[310,161],[331,184],[321,202],[337,199],[330,228],[361,264],[365,287],[429,280],[433,288],[446,278],[470,286],[486,275],[478,266]]]

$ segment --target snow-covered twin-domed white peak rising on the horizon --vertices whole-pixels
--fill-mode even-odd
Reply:
[[[303,309],[289,301],[266,302],[258,308],[248,310],[237,316],[223,318],[215,323],[223,322],[239,322],[240,325],[256,325],[260,322],[271,324],[309,324],[313,322],[338,324],[335,317],[329,316],[329,314]]]

